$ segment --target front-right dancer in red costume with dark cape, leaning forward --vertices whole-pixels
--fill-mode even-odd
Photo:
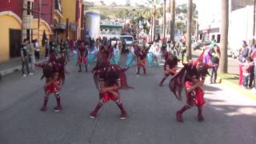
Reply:
[[[176,119],[178,122],[183,122],[182,114],[190,109],[191,106],[198,106],[198,121],[204,120],[202,116],[202,107],[205,104],[204,90],[202,88],[208,69],[211,67],[203,61],[203,54],[198,57],[197,60],[191,61],[184,65],[174,77],[170,80],[170,90],[174,93],[179,101],[182,100],[182,87],[186,89],[186,105],[178,110],[176,113]]]

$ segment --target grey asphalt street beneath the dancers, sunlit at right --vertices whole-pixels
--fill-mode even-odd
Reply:
[[[91,70],[93,65],[90,65]],[[122,90],[122,102],[129,118],[118,119],[114,102],[106,103],[96,119],[90,111],[98,102],[91,73],[78,73],[69,63],[62,87],[61,113],[54,113],[54,96],[48,110],[41,112],[44,81],[41,71],[22,78],[20,72],[0,82],[1,144],[255,144],[256,102],[225,86],[206,84],[205,122],[198,122],[197,109],[186,111],[183,123],[175,111],[183,106],[167,87],[157,84],[162,67],[148,68],[146,76],[127,71],[134,90]]]

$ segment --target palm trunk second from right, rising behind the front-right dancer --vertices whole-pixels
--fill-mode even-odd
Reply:
[[[191,53],[191,32],[192,32],[192,0],[188,0],[187,2],[187,26],[186,26],[186,47],[187,47],[187,58],[191,59],[192,58],[192,53]]]

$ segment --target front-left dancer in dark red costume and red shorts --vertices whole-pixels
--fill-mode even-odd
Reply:
[[[51,52],[50,59],[48,61],[37,64],[36,66],[42,68],[42,78],[46,78],[46,85],[44,86],[46,96],[41,110],[46,111],[49,96],[50,94],[54,94],[57,102],[57,106],[54,107],[54,111],[60,112],[62,110],[62,105],[59,90],[61,90],[62,78],[65,78],[63,63],[60,61],[58,62],[54,52]]]

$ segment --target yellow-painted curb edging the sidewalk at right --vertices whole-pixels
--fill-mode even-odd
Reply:
[[[252,93],[250,90],[244,90],[241,88],[241,86],[238,86],[232,82],[229,82],[226,79],[222,79],[222,78],[218,78],[218,79],[220,80],[220,83],[222,85],[228,86],[228,87],[232,88],[233,90],[238,91],[240,94],[243,94],[246,97],[251,98],[254,101],[256,101],[256,94]]]

